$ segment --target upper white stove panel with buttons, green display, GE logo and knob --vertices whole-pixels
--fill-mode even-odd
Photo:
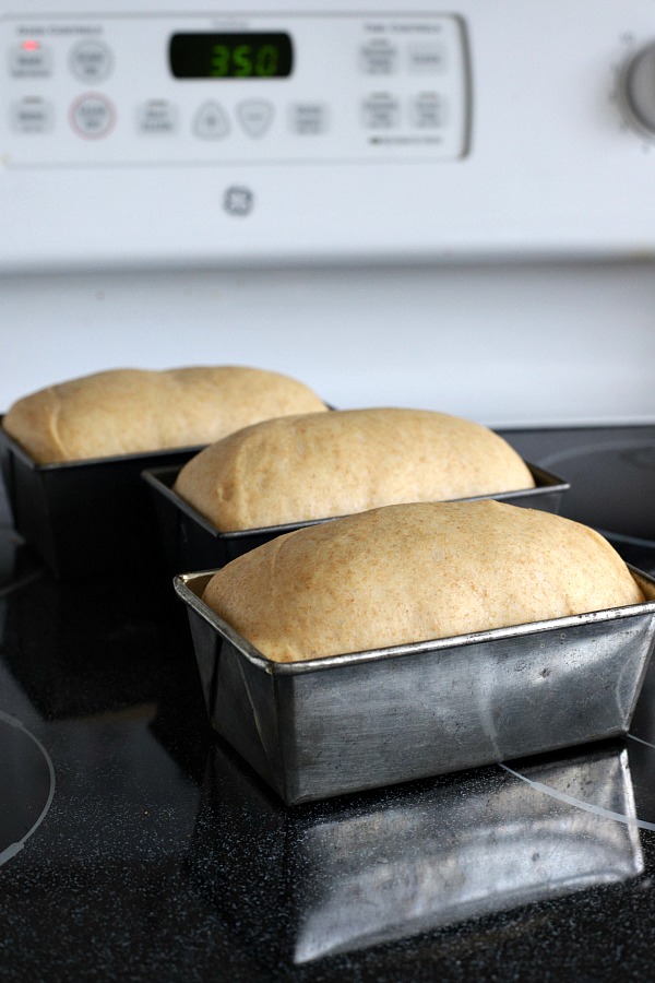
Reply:
[[[0,0],[0,274],[655,254],[653,0]]]

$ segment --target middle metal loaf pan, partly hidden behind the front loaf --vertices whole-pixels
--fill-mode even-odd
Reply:
[[[515,506],[540,509],[545,512],[559,512],[562,496],[570,485],[549,474],[541,467],[526,462],[534,479],[535,487],[520,492],[503,492],[498,495],[478,495],[465,501],[477,501],[493,498]],[[270,525],[263,529],[247,529],[237,532],[219,532],[204,516],[180,498],[172,486],[182,465],[171,467],[153,467],[143,472],[143,477],[153,489],[155,510],[159,523],[163,548],[168,560],[171,575],[186,570],[203,570],[224,567],[230,560],[274,540],[284,533],[307,525],[318,525],[330,519],[314,519],[305,522],[291,522],[285,525]]]

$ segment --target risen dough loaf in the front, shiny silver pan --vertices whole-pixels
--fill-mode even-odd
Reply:
[[[636,604],[594,530],[492,500],[390,506],[287,533],[214,575],[204,602],[276,662]]]

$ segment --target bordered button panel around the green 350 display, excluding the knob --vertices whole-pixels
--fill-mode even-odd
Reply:
[[[452,15],[19,16],[0,22],[5,166],[456,159]]]

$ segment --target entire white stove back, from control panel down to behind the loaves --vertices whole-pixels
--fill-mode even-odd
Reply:
[[[0,48],[4,407],[241,363],[655,419],[653,0],[1,0]]]

